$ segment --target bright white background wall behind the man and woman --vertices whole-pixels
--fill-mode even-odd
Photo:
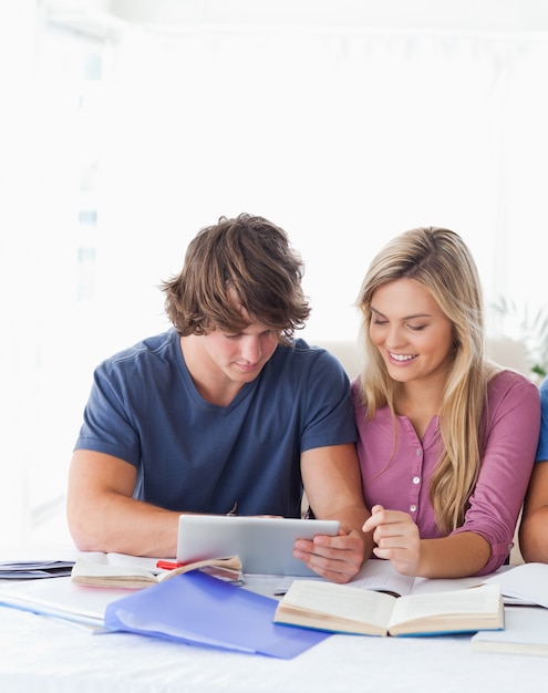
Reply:
[[[490,333],[519,335],[523,307],[546,304],[542,0],[3,0],[0,12],[7,536],[32,534],[62,499],[93,365],[166,327],[157,286],[220,215],[288,230],[311,341],[355,339],[369,261],[417,225],[463,235],[487,306],[516,300],[514,320],[489,311]]]

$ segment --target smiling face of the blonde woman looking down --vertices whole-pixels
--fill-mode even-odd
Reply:
[[[445,376],[453,325],[430,291],[413,279],[395,279],[374,291],[369,333],[393,380]]]

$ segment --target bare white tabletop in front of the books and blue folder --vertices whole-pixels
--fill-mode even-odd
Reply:
[[[66,621],[0,608],[2,693],[547,690],[547,658],[473,652],[467,635],[332,635],[293,660],[278,660],[133,634],[92,635]]]

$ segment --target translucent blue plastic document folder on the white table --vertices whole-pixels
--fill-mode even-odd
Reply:
[[[199,571],[111,602],[104,624],[125,631],[250,654],[292,659],[329,633],[272,622],[278,602]]]

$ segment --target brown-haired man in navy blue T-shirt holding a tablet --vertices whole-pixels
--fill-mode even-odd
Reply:
[[[286,232],[221,217],[164,283],[174,329],[95,371],[69,474],[82,550],[173,556],[182,513],[299,517],[302,485],[340,536],[294,555],[347,582],[371,550],[349,382],[328,352],[293,340],[310,308]]]

